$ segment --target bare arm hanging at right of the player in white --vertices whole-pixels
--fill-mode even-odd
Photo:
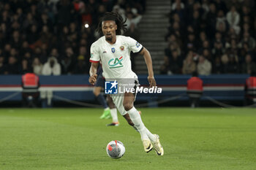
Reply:
[[[148,68],[148,82],[149,82],[149,88],[152,88],[153,86],[157,85],[156,80],[154,80],[154,72],[153,72],[153,66],[152,66],[152,59],[151,55],[146,49],[146,47],[143,47],[143,50],[140,52],[141,55],[143,55],[146,65]]]

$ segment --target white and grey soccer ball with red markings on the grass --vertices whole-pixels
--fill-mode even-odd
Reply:
[[[108,143],[106,150],[110,158],[118,159],[124,155],[125,147],[122,142],[115,140]]]

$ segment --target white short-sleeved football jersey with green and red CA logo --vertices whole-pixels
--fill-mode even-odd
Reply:
[[[105,36],[99,38],[91,45],[91,62],[102,63],[103,77],[108,79],[138,78],[132,72],[130,53],[138,53],[142,50],[135,39],[129,36],[116,36],[116,43],[110,45]]]

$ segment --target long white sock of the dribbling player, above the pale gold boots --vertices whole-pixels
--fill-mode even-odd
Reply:
[[[141,140],[148,139],[148,135],[146,134],[146,127],[141,120],[138,110],[135,109],[135,107],[132,107],[132,109],[128,110],[127,112],[129,113],[129,117],[131,118],[132,123],[135,124],[135,128],[138,129]]]

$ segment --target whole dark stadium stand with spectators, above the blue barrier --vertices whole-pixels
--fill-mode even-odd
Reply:
[[[3,0],[0,74],[27,70],[43,74],[48,58],[56,58],[61,74],[88,74],[89,47],[99,37],[95,28],[102,14],[111,10],[128,18],[126,35],[140,39],[142,34],[141,42],[152,51],[156,73],[251,74],[256,72],[254,7],[252,0]],[[166,42],[158,37],[165,32],[160,27],[167,26],[162,9],[170,9]],[[159,30],[154,34],[148,25],[152,21],[159,22],[152,24]],[[151,47],[152,39],[159,47]],[[159,51],[166,44],[165,52]],[[146,73],[143,68],[138,73]]]

